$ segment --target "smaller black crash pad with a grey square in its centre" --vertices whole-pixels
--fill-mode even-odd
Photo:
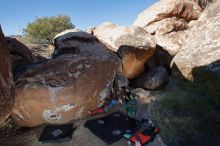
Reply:
[[[40,143],[57,143],[68,141],[72,138],[72,134],[76,128],[73,124],[65,125],[48,125],[44,128],[40,138]]]

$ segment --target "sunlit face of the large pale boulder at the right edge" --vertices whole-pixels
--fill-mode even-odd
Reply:
[[[181,73],[192,79],[192,70],[220,59],[220,2],[210,4],[201,14],[181,51],[174,57]]]

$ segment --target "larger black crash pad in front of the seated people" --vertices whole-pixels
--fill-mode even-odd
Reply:
[[[132,133],[138,129],[140,122],[122,112],[115,112],[101,118],[89,120],[84,126],[110,145],[121,139],[125,133]]]

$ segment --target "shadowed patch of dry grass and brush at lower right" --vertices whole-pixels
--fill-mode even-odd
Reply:
[[[176,90],[166,90],[150,106],[152,120],[169,146],[218,146],[220,79],[189,82],[177,74]]]

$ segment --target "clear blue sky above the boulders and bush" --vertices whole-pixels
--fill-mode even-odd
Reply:
[[[137,15],[157,0],[0,0],[0,24],[5,35],[21,35],[36,17],[68,15],[76,28],[111,21],[132,25]]]

